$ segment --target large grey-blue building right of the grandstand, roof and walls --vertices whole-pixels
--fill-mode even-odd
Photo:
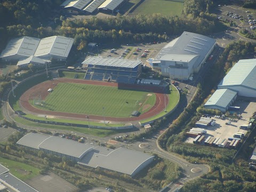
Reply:
[[[215,47],[215,39],[184,31],[150,62],[163,76],[187,80],[204,65]]]

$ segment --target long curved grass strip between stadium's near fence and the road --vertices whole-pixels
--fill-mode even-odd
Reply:
[[[15,122],[21,123],[23,125],[28,125],[28,126],[33,126],[33,127],[42,127],[45,129],[74,131],[74,132],[80,132],[80,133],[94,135],[97,137],[107,137],[109,135],[127,132],[127,130],[88,129],[88,128],[74,127],[74,126],[70,127],[70,126],[62,126],[62,125],[50,125],[50,124],[35,123],[35,122],[28,121],[28,120],[23,119],[18,116],[14,116],[13,119]],[[90,123],[90,125],[91,125],[91,123]]]

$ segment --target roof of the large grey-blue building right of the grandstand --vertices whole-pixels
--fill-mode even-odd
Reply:
[[[195,57],[193,55],[199,55],[197,59],[199,65],[215,42],[213,38],[184,31],[179,38],[167,44],[155,59],[162,60],[164,55],[170,54],[164,57],[163,60],[187,61],[193,59]],[[185,57],[185,55],[187,56]]]

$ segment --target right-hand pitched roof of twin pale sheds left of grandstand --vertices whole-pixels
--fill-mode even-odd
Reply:
[[[42,38],[35,52],[35,56],[57,55],[68,57],[74,39],[63,36],[51,36]]]

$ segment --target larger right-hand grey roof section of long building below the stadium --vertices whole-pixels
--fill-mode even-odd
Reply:
[[[132,175],[139,165],[150,158],[154,156],[122,147],[113,150],[99,146],[87,153],[78,163]]]

